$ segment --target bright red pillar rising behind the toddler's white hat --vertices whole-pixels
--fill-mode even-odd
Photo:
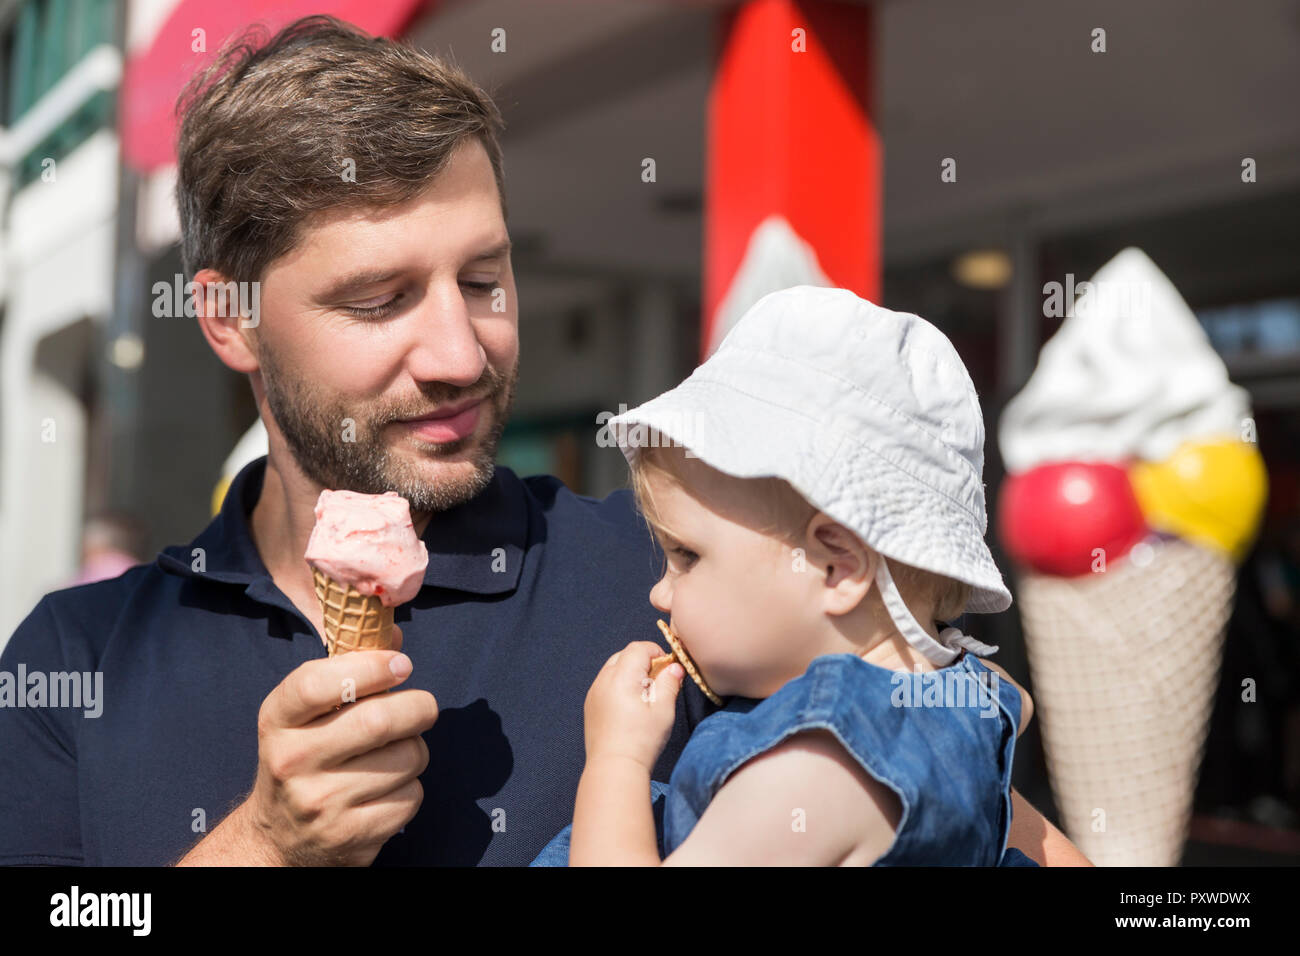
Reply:
[[[879,302],[871,26],[868,5],[836,0],[751,0],[723,16],[708,101],[702,359],[776,289],[833,285]]]

